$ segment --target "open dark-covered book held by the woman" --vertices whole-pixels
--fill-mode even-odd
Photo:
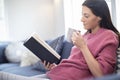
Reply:
[[[32,34],[23,45],[40,58],[42,62],[57,63],[61,58],[61,56],[36,33]]]

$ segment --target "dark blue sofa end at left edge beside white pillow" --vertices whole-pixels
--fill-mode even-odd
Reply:
[[[9,42],[0,42],[0,64],[7,63],[8,60],[5,57],[5,48],[9,44]]]

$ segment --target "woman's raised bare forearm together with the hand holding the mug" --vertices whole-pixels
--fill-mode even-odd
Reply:
[[[100,65],[99,65],[98,61],[93,57],[90,50],[88,49],[87,44],[86,44],[85,40],[83,39],[83,37],[81,36],[81,34],[78,32],[73,33],[72,41],[73,41],[73,44],[75,46],[77,46],[78,48],[80,48],[80,50],[82,51],[83,56],[86,60],[86,63],[88,65],[91,73],[95,77],[102,76],[103,73],[102,73],[102,70],[100,68]]]

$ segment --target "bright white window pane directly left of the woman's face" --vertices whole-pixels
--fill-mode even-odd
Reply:
[[[74,28],[85,32],[81,19],[81,9],[84,0],[64,0],[64,15],[65,15],[65,33],[68,28]]]

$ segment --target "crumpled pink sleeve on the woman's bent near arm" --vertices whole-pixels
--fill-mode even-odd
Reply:
[[[107,35],[105,37],[102,51],[96,58],[104,75],[114,72],[117,58],[116,49],[118,47],[118,39],[115,36]]]

